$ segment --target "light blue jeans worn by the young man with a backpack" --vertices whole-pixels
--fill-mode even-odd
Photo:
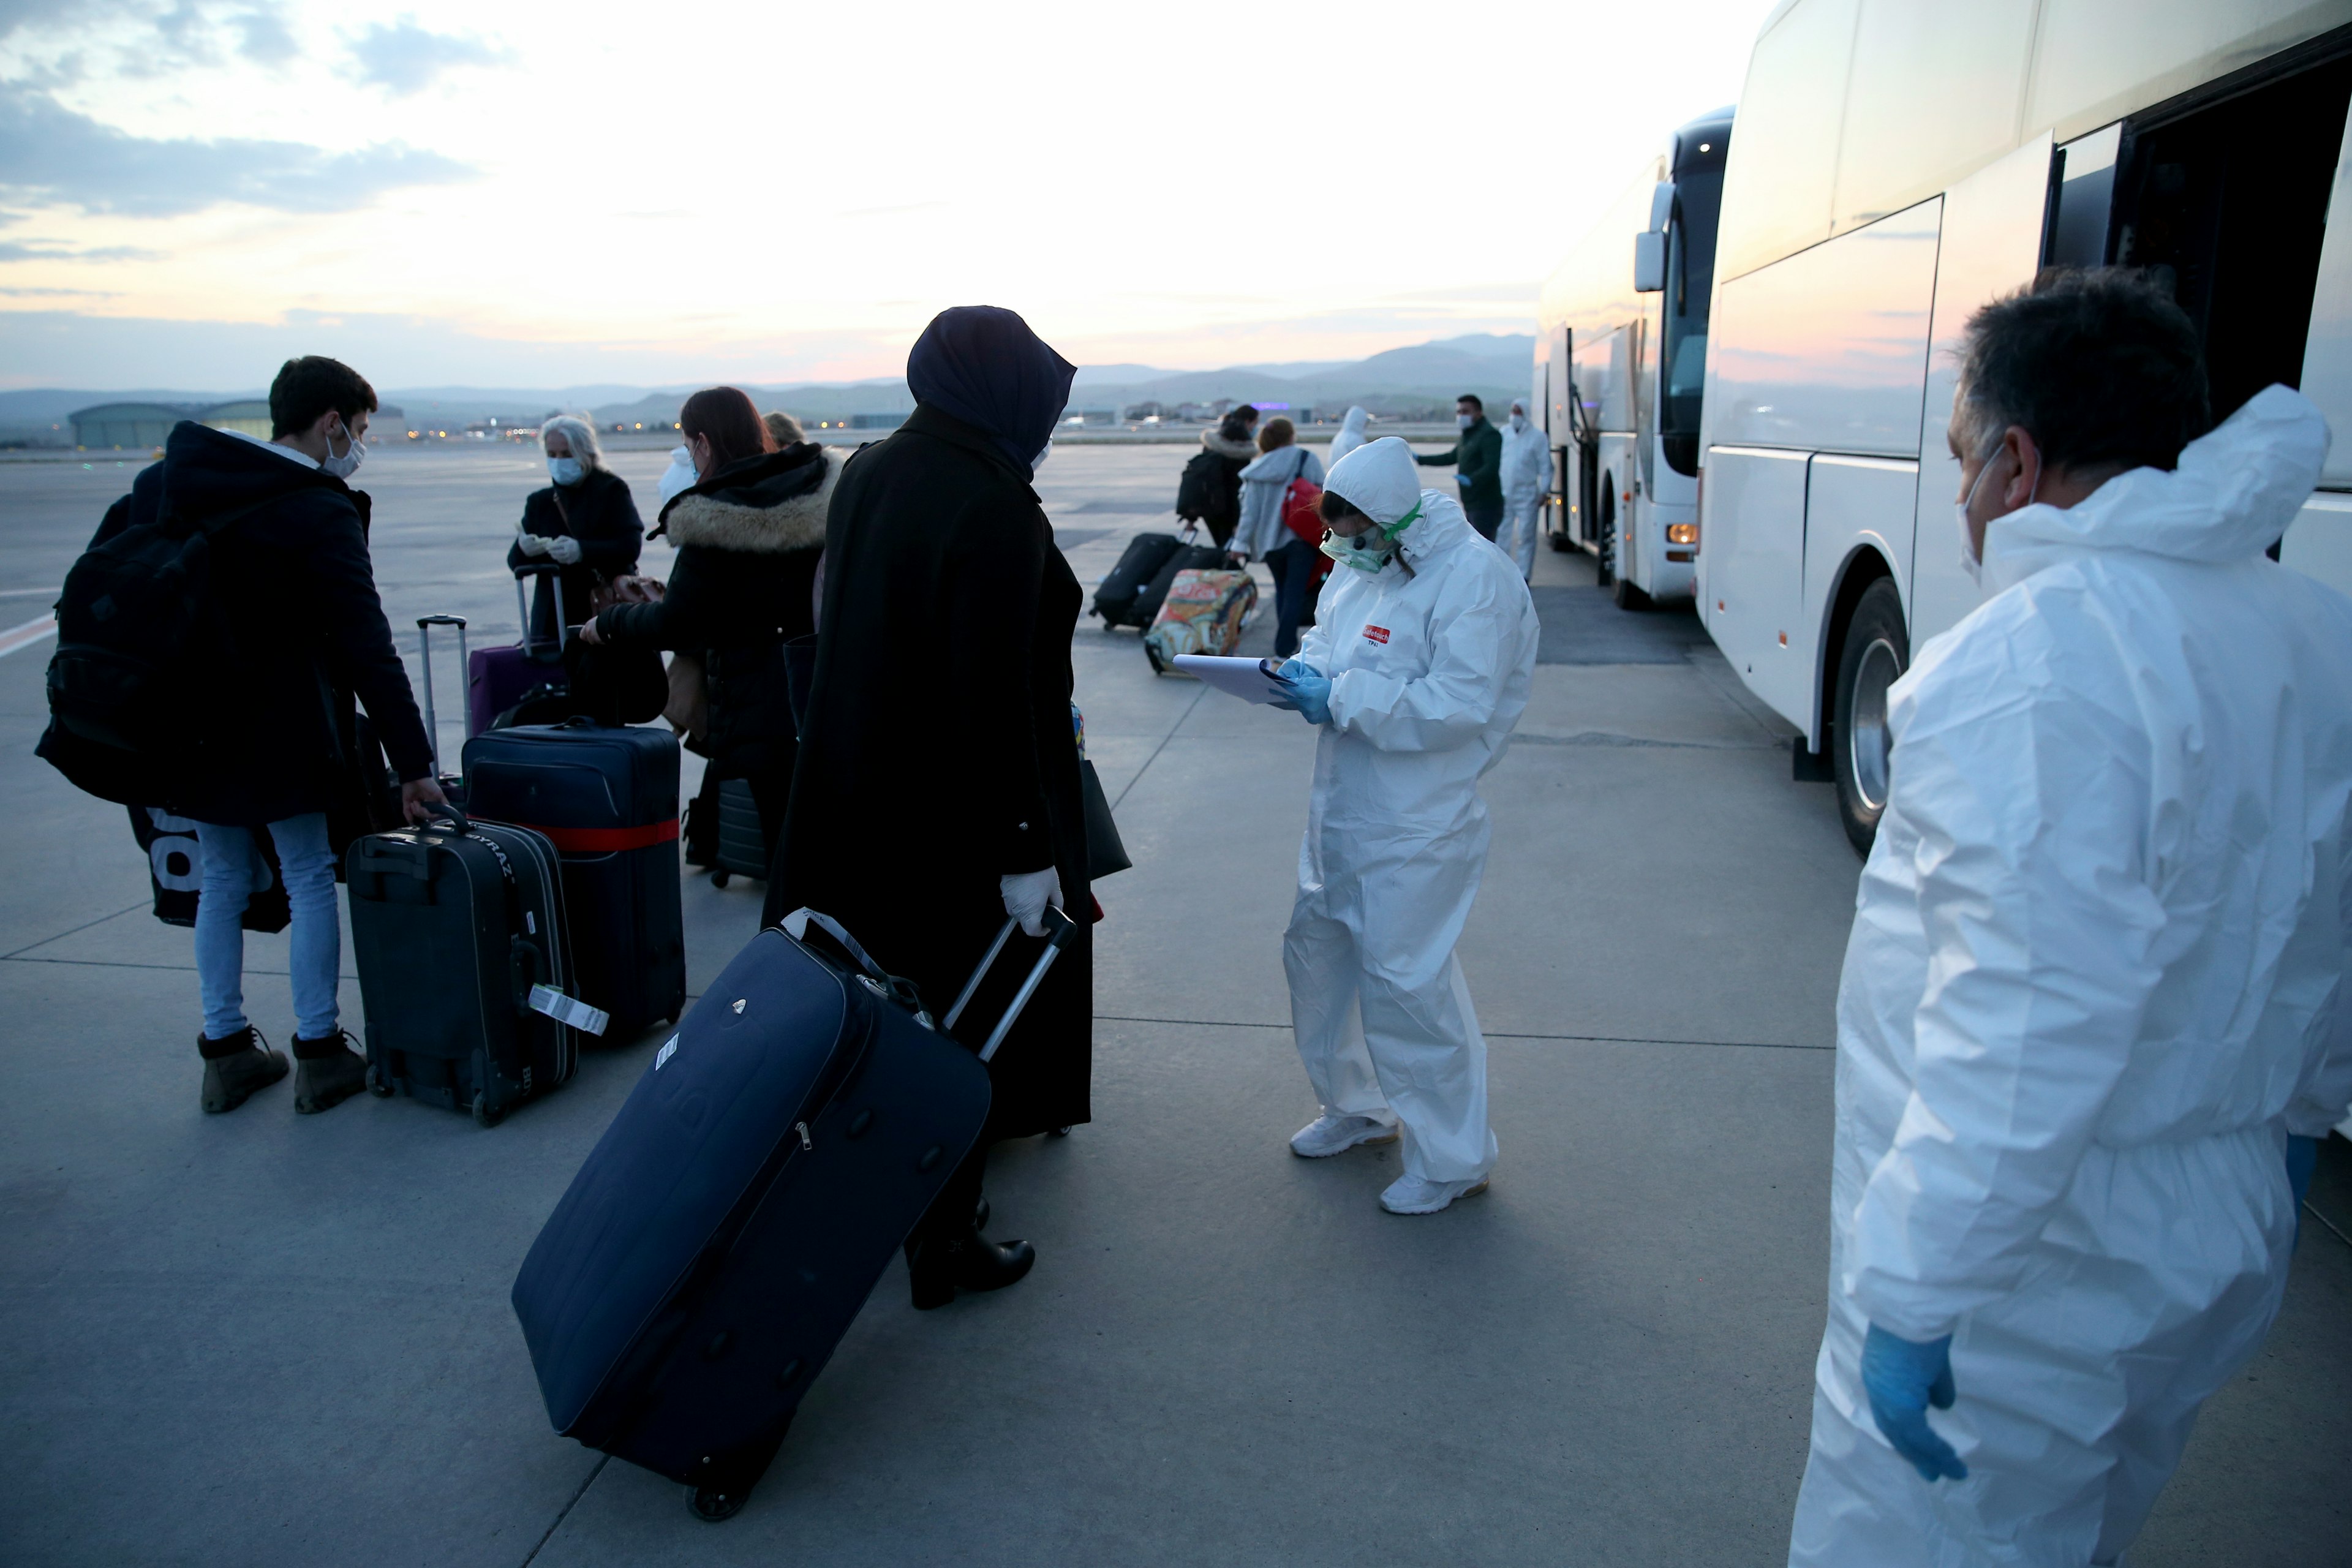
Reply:
[[[205,997],[205,1034],[228,1039],[245,1027],[245,900],[263,865],[254,835],[245,827],[195,825],[205,863],[205,891],[195,903],[195,985]],[[270,823],[278,870],[287,884],[294,938],[287,966],[294,971],[294,1032],[301,1039],[334,1039],[341,1027],[336,971],[343,966],[343,929],[334,917],[334,851],[327,849],[327,813],[289,816]]]

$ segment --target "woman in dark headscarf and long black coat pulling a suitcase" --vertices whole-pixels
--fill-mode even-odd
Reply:
[[[997,1051],[971,1159],[908,1239],[915,1305],[1028,1274],[1025,1241],[981,1237],[988,1145],[1089,1119],[1094,954],[1087,830],[1070,729],[1070,635],[1084,592],[1030,475],[1075,367],[1011,310],[943,310],[908,355],[915,414],[842,470],[826,520],[816,684],[767,919],[840,919],[934,1013],[1016,914],[1080,919]],[[1014,952],[967,1009],[985,1039],[1037,952]]]

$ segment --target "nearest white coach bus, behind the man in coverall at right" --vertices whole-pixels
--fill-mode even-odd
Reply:
[[[1980,592],[1945,451],[1966,317],[2166,268],[2213,416],[2284,381],[2336,451],[2288,567],[2352,590],[2352,0],[1783,0],[1724,172],[1698,604],[1867,849],[1886,686]],[[2338,221],[2328,226],[2328,202]]]

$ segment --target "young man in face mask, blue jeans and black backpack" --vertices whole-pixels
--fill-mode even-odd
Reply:
[[[327,806],[353,790],[353,712],[367,708],[409,820],[445,804],[367,559],[376,393],[348,364],[287,360],[270,440],[172,428],[160,463],[115,501],[59,599],[49,733],[40,755],[108,799],[198,823],[195,971],[207,1112],[287,1074],[245,1018],[240,914],[266,827],[294,917],[294,1110],[360,1091],[341,1027],[341,929]]]

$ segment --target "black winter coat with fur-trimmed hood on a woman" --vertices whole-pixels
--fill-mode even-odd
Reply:
[[[800,442],[677,491],[654,529],[677,548],[668,592],[656,604],[614,604],[597,616],[597,632],[619,646],[703,661],[710,696],[703,752],[720,778],[790,773],[783,644],[816,630],[809,585],[840,473],[840,456]]]

